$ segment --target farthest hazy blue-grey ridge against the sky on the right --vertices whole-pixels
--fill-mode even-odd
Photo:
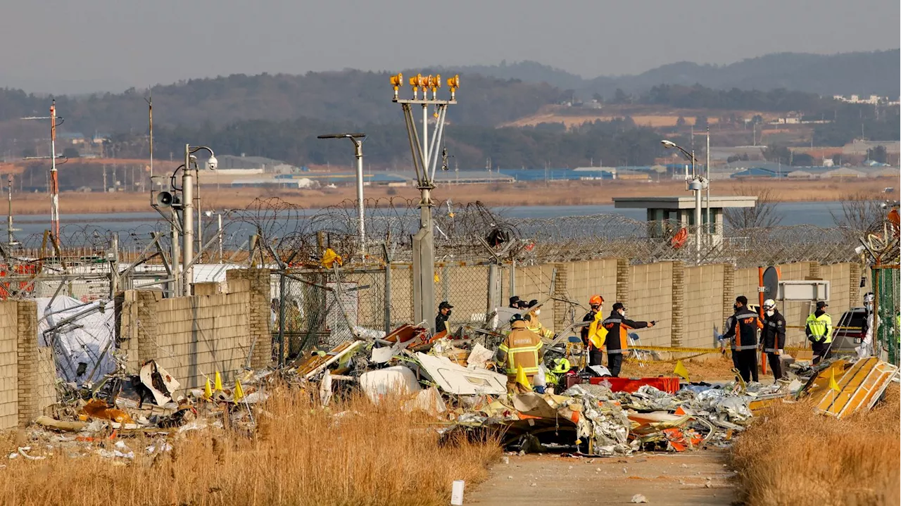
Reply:
[[[827,96],[901,95],[901,50],[834,55],[774,53],[722,66],[683,61],[620,77],[582,78],[533,61],[465,67],[460,71],[543,82],[576,90],[584,99],[594,94],[612,97],[617,88],[630,94],[643,93],[660,84],[764,91],[785,88]]]

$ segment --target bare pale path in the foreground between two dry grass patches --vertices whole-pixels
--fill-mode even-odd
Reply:
[[[485,483],[467,490],[464,502],[631,504],[636,493],[651,505],[729,506],[735,501],[733,473],[721,450],[604,458],[527,455],[509,456],[509,461],[495,465]]]

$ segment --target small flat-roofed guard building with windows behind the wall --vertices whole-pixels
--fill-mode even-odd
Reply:
[[[757,197],[711,196],[701,212],[705,240],[718,247],[723,244],[723,210],[750,208],[757,205]],[[694,197],[614,197],[616,209],[645,209],[648,215],[648,237],[669,239],[680,229],[695,226],[696,199]],[[709,216],[709,221],[708,221]]]

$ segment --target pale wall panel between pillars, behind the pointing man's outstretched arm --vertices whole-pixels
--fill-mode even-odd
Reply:
[[[635,321],[669,321],[672,312],[673,268],[671,262],[659,262],[631,266],[629,303],[626,304],[629,318]],[[613,309],[613,304],[604,304],[605,312]],[[664,323],[651,330],[639,330],[642,343],[651,346],[669,346],[671,323]]]

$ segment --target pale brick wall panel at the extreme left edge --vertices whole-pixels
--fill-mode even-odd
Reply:
[[[0,429],[19,424],[18,304],[0,302]]]

